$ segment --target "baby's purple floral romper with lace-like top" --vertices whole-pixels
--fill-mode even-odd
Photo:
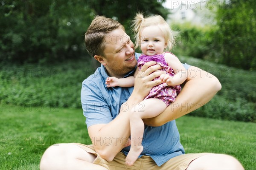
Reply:
[[[169,74],[170,76],[175,75],[173,69],[171,67],[169,67],[169,65],[166,62],[165,54],[157,54],[154,56],[146,56],[144,54],[141,54],[138,59],[139,69],[141,69],[141,67],[146,62],[149,62],[149,61],[156,61],[157,64],[159,64],[163,67],[160,70],[166,71],[166,73]],[[159,77],[157,77],[153,80],[157,80],[157,79],[159,79]],[[144,98],[144,100],[149,99],[149,98],[157,98],[157,99],[162,100],[163,102],[165,102],[165,104],[167,106],[169,106],[172,102],[175,101],[177,95],[180,93],[180,90],[181,90],[180,85],[169,86],[166,83],[162,83],[160,85],[154,86],[151,89],[151,91],[149,92],[148,96],[146,96]]]

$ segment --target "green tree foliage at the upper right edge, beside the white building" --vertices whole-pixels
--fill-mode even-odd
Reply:
[[[229,0],[217,11],[215,45],[220,62],[236,68],[256,68],[256,1]]]

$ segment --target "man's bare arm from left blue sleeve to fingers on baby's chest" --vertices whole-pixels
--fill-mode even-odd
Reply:
[[[162,71],[152,73],[161,68],[160,65],[154,64],[156,64],[156,62],[146,63],[137,74],[134,91],[127,102],[123,104],[124,107],[128,107],[129,110],[126,108],[124,111],[121,110],[119,115],[108,124],[92,125],[88,127],[88,133],[90,138],[93,139],[92,142],[96,152],[107,161],[112,161],[116,154],[126,146],[125,144],[130,136],[129,113],[133,109],[132,105],[141,102],[144,97],[148,95],[153,86],[162,83],[160,80],[151,81],[155,77],[159,77],[163,74]]]

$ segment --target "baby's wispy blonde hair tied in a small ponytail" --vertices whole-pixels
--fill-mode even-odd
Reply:
[[[142,13],[137,13],[132,22],[133,31],[135,33],[135,48],[140,46],[141,31],[148,26],[158,26],[160,28],[164,34],[165,42],[167,43],[167,50],[171,50],[175,45],[172,29],[160,15],[144,18]]]

